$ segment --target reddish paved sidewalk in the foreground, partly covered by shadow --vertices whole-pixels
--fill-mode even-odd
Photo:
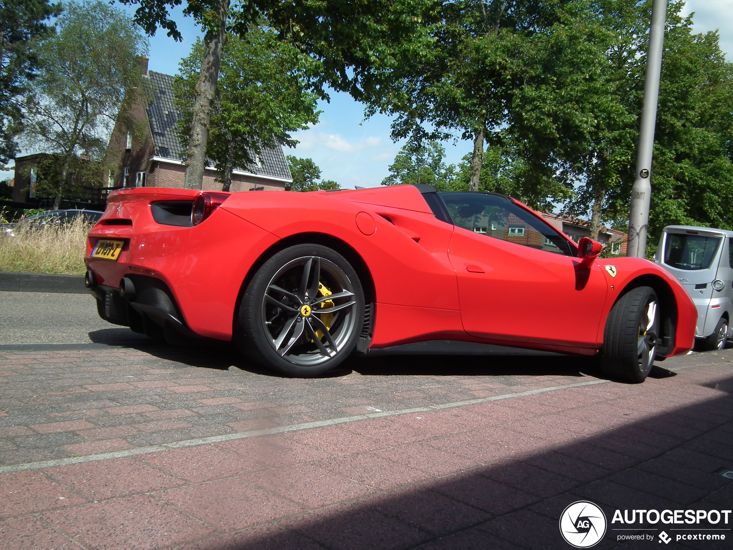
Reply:
[[[664,366],[676,372],[658,370],[660,378],[641,385],[603,382],[2,474],[0,548],[552,549],[570,547],[558,518],[579,499],[603,507],[609,521],[616,508],[729,509],[733,481],[712,472],[733,467],[732,359],[733,351],[669,359]],[[320,382],[331,388],[328,380]],[[438,399],[470,394],[465,386]],[[400,406],[424,403],[426,394]],[[97,406],[94,422],[114,417],[114,407],[138,406],[120,399]],[[177,409],[158,407],[165,410]],[[313,418],[315,410],[283,417]],[[40,437],[47,428],[31,429]],[[102,429],[69,425],[59,433]],[[617,543],[609,530],[597,548],[639,544]]]

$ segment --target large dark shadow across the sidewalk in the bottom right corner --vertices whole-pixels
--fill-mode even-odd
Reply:
[[[611,523],[616,509],[623,514],[731,508],[733,480],[713,472],[733,467],[733,378],[714,386],[726,395],[544,452],[521,455],[518,450],[517,458],[509,461],[291,518],[281,522],[287,530],[271,529],[269,535],[259,536],[244,530],[186,548],[568,549],[559,518],[578,500],[594,502],[605,513],[608,530],[594,548],[730,548],[732,531],[697,529],[730,529],[733,517],[727,525],[707,520],[694,525],[645,524],[645,529],[656,529],[647,531],[613,530],[639,524]],[[638,414],[639,402],[634,406],[618,414]],[[589,410],[589,418],[592,414]],[[528,436],[517,434],[519,447],[522,437]],[[491,441],[479,447],[486,456],[492,454]],[[474,445],[470,452],[476,455],[479,447]],[[460,448],[454,452],[462,453]],[[672,542],[660,546],[662,530]],[[696,532],[725,534],[726,540],[677,542],[677,535]],[[619,542],[619,535],[640,533],[651,534],[652,540]]]

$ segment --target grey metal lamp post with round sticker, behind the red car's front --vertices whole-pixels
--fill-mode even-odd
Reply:
[[[649,27],[644,103],[641,104],[636,177],[631,191],[629,238],[626,247],[627,256],[639,258],[643,258],[647,254],[649,199],[652,195],[649,176],[652,173],[652,149],[654,147],[654,129],[657,123],[657,101],[659,99],[659,80],[662,71],[662,46],[666,15],[667,0],[654,0],[652,3],[652,24]]]

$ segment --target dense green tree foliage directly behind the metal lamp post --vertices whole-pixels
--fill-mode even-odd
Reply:
[[[613,40],[599,62],[593,123],[578,135],[581,177],[567,210],[625,225],[634,180],[651,2],[597,0]],[[733,64],[715,32],[693,34],[683,3],[668,7],[660,85],[649,237],[667,224],[733,227]],[[653,249],[653,246],[650,247]]]

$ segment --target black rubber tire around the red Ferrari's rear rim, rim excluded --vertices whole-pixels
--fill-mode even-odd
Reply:
[[[314,366],[301,366],[283,359],[270,345],[270,336],[266,334],[261,319],[262,301],[265,299],[265,291],[270,280],[283,265],[303,256],[325,258],[325,260],[329,260],[341,268],[351,285],[353,285],[354,300],[356,301],[356,329],[350,334],[346,344],[339,353],[336,353],[336,356]],[[350,356],[361,333],[363,319],[364,290],[361,287],[358,274],[345,257],[334,249],[320,244],[298,244],[273,254],[252,277],[240,301],[237,327],[235,329],[235,343],[248,359],[254,359],[264,367],[276,370],[276,372],[286,376],[312,378],[333,370]]]

